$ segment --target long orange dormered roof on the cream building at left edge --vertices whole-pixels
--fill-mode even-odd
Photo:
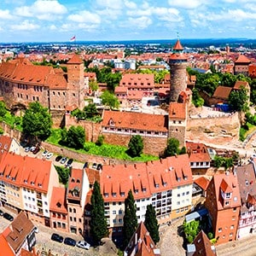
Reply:
[[[51,161],[8,153],[0,162],[3,181],[47,193]]]

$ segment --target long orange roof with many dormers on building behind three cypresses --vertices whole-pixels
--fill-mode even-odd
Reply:
[[[108,194],[104,201],[124,201],[130,189],[135,199],[147,198],[157,192],[192,184],[193,180],[189,157],[181,154],[133,165],[102,166],[100,183],[102,195]]]

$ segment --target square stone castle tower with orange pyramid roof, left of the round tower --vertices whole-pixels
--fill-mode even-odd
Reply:
[[[67,61],[67,106],[84,108],[84,61],[79,55]]]

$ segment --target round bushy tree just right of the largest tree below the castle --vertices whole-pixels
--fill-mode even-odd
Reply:
[[[71,126],[67,131],[66,127],[61,131],[61,143],[69,148],[84,148],[85,134],[82,126]]]

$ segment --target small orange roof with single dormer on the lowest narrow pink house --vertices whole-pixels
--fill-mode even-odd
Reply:
[[[53,187],[49,211],[67,213],[65,188]]]

